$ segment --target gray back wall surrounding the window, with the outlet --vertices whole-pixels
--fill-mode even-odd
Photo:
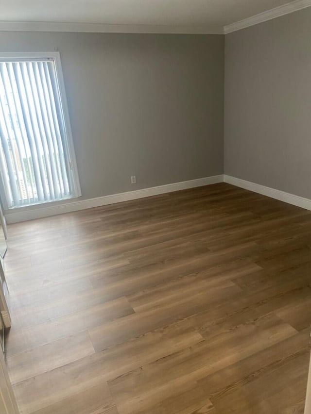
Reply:
[[[83,198],[223,173],[223,35],[0,32],[2,51],[54,48]]]

